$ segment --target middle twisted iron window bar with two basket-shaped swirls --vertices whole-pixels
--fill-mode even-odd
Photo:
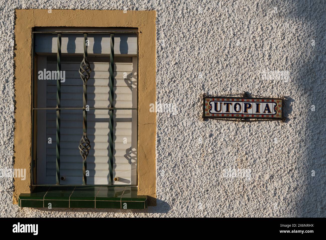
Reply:
[[[90,68],[90,64],[87,60],[87,34],[84,34],[84,58],[81,62],[81,67],[79,69],[79,74],[81,75],[83,81],[83,107],[86,108],[87,104],[87,80],[90,77],[92,69]],[[90,141],[87,137],[87,111],[83,109],[83,135],[82,139],[79,142],[79,152],[82,156],[82,184],[86,185],[86,157],[88,156],[89,150],[91,149]]]

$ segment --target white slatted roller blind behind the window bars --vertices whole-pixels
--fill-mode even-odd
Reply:
[[[87,82],[87,104],[90,107],[110,107],[109,57],[88,57],[92,73]],[[82,107],[82,80],[79,75],[82,57],[62,57],[61,70],[66,73],[61,83],[61,107]],[[39,70],[56,70],[56,57],[38,56]],[[38,80],[38,107],[56,107],[56,80]],[[115,57],[114,107],[137,108],[137,58]],[[46,119],[46,122],[42,122]],[[60,184],[82,184],[82,157],[79,141],[82,137],[82,110],[61,110]],[[91,150],[87,156],[87,184],[109,184],[110,129],[109,110],[87,112],[87,136]],[[137,183],[137,110],[113,112],[113,184]],[[56,111],[37,113],[37,184],[55,184],[56,173]],[[48,138],[52,144],[48,144]],[[44,142],[43,142],[44,141]],[[44,149],[44,150],[43,150]]]

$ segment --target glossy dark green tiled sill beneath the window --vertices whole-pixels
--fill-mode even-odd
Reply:
[[[137,195],[137,192],[137,187],[37,186],[32,193],[19,195],[18,205],[44,208],[147,208],[147,196]]]

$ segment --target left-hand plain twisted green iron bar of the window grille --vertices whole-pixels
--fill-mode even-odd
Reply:
[[[57,51],[57,71],[61,71],[61,34],[58,33],[57,38],[58,51]],[[61,99],[61,81],[60,77],[57,77],[57,108],[60,108]],[[56,110],[57,120],[56,120],[56,185],[60,184],[60,109]]]

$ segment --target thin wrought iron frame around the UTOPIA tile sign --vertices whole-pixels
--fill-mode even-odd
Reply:
[[[203,114],[201,116],[202,120],[205,119],[214,119],[214,120],[223,120],[223,121],[243,121],[243,122],[251,122],[251,121],[268,121],[268,120],[281,120],[284,122],[286,118],[284,117],[284,99],[285,97],[282,95],[281,98],[273,98],[273,97],[263,97],[258,95],[249,94],[247,92],[242,93],[234,93],[234,94],[222,94],[222,95],[206,95],[205,93],[201,94],[200,97],[203,101],[202,111]],[[280,100],[282,101],[282,109],[281,109],[281,117],[278,118],[271,118],[271,117],[245,117],[244,115],[252,115],[252,114],[238,114],[241,116],[205,116],[205,99],[208,98],[217,98],[217,99],[224,99],[224,98],[246,98],[246,99],[270,99],[270,100]],[[236,115],[236,114],[230,114],[230,115]]]

